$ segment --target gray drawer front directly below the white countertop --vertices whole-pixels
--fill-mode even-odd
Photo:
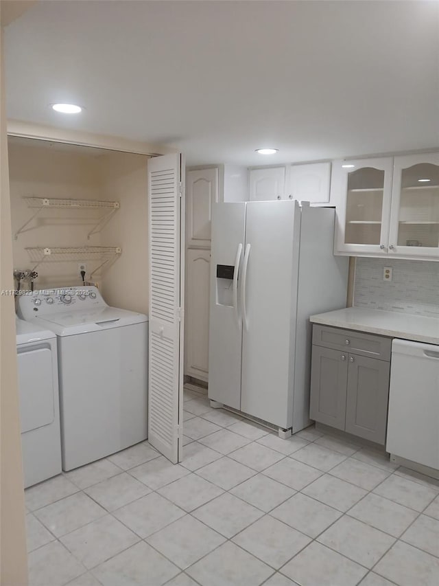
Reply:
[[[392,351],[391,338],[320,324],[313,326],[313,344],[385,361],[390,361]]]

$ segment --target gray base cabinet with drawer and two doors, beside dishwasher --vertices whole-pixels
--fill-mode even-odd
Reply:
[[[310,417],[385,444],[391,339],[313,326]]]

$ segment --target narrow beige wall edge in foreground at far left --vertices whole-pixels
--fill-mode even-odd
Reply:
[[[3,55],[2,49],[0,27],[0,55]],[[0,63],[0,289],[12,289],[12,235],[4,98],[3,63]],[[14,297],[7,295],[0,295],[0,446],[0,583],[1,586],[24,586],[27,584],[27,556]]]

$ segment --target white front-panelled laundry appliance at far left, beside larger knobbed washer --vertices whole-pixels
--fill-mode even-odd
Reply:
[[[58,360],[53,332],[16,318],[25,488],[61,472]]]

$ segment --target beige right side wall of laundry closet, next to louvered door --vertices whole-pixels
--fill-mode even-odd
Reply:
[[[100,159],[102,194],[121,204],[102,230],[102,245],[122,248],[104,273],[102,294],[108,304],[140,313],[148,311],[147,159],[130,153]]]

